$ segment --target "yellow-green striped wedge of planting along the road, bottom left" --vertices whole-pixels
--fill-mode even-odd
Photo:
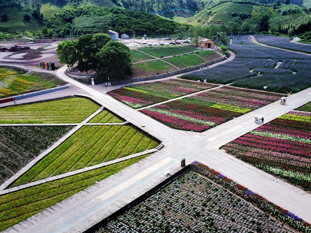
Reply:
[[[0,231],[51,207],[147,155],[0,196]]]

